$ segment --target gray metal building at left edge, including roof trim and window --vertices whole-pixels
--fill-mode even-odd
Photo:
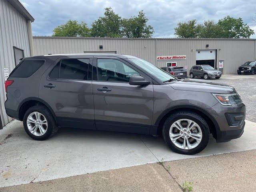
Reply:
[[[11,120],[4,108],[4,81],[20,58],[33,55],[33,21],[34,18],[18,0],[0,0],[0,128]]]

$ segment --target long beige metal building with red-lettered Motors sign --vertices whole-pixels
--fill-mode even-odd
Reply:
[[[256,39],[79,38],[34,36],[34,54],[117,53],[144,58],[158,67],[210,64],[223,74],[236,73],[256,60]],[[220,66],[219,66],[220,65]],[[223,67],[223,68],[222,68]]]

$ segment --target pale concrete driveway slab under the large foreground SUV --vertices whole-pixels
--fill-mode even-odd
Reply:
[[[27,136],[14,120],[0,131],[0,187],[26,184],[161,161],[256,149],[256,123],[241,138],[216,143],[188,156],[172,152],[162,138],[139,134],[60,129],[46,141]]]

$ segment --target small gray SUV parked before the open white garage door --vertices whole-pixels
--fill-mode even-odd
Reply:
[[[210,65],[195,65],[189,71],[190,78],[202,77],[204,79],[209,79],[215,77],[219,79],[221,77],[221,71],[215,70]]]

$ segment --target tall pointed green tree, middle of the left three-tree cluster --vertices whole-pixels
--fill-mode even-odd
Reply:
[[[111,7],[105,8],[104,17],[92,23],[93,37],[121,37],[121,17]]]

